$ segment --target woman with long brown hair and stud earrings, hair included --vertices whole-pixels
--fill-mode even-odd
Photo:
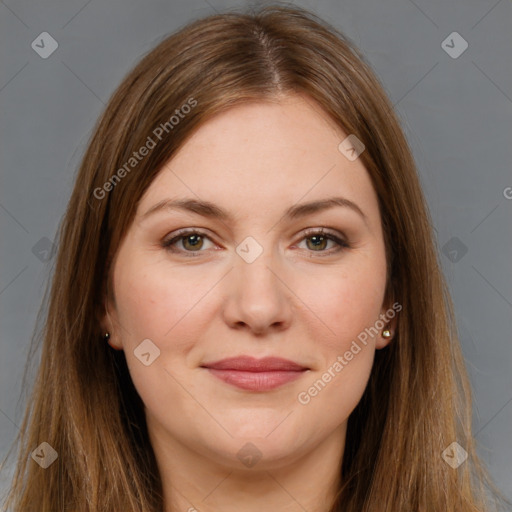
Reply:
[[[413,158],[314,15],[142,59],[56,265],[9,510],[490,510]]]

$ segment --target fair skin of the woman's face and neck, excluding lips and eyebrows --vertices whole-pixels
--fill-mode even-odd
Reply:
[[[361,160],[338,150],[346,136],[304,96],[237,106],[203,124],[139,203],[114,259],[103,324],[111,346],[125,351],[145,404],[166,511],[329,509],[347,419],[375,350],[391,340],[380,329],[309,403],[299,403],[298,394],[391,307],[383,303],[377,196]],[[292,205],[334,195],[356,203],[366,219],[340,206],[283,218]],[[215,203],[233,219],[177,209],[143,218],[160,201],[185,197]],[[176,252],[163,247],[181,228],[206,234],[199,243],[181,238]],[[315,245],[308,228],[325,228],[350,247]],[[236,252],[249,236],[263,248],[252,263]],[[134,354],[145,339],[160,350],[148,366]],[[256,392],[201,368],[239,355],[278,356],[309,370]],[[249,467],[240,450],[261,458]]]

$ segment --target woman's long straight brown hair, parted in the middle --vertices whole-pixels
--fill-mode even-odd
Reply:
[[[313,14],[284,6],[190,23],[149,52],[110,99],[59,229],[46,321],[34,336],[43,341],[41,361],[16,439],[5,510],[163,510],[143,404],[124,353],[103,342],[99,328],[109,263],[144,191],[194,130],[233,105],[293,93],[316,102],[364,143],[360,158],[385,236],[386,300],[403,307],[397,335],[377,351],[349,418],[342,487],[325,506],[490,510],[492,484],[471,436],[470,386],[452,304],[393,106],[350,40]],[[151,146],[147,156],[134,163],[144,145]],[[27,375],[26,369],[24,386]],[[458,469],[441,456],[454,441],[469,455]],[[58,454],[47,469],[31,459],[42,442]]]

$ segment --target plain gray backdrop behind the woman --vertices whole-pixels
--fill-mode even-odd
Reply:
[[[354,40],[396,106],[453,294],[473,385],[479,453],[512,499],[511,2],[295,3]],[[97,117],[123,76],[165,35],[192,19],[245,5],[0,3],[0,457],[21,422],[23,403],[17,401],[53,264],[51,241]],[[442,47],[454,31],[468,43],[457,58]],[[42,46],[42,32],[58,42],[46,59],[31,47],[33,41]],[[445,47],[462,48],[452,39]],[[3,486],[8,478],[4,472]]]

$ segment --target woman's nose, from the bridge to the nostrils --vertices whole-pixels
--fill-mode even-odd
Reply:
[[[293,294],[271,254],[264,252],[252,263],[238,258],[228,279],[223,314],[231,328],[262,336],[289,327]]]

